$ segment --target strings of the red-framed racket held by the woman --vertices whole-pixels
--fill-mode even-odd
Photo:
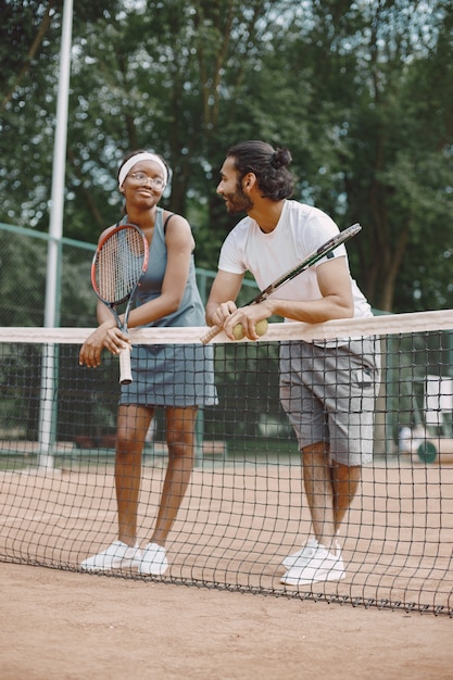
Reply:
[[[119,303],[127,299],[143,270],[146,244],[136,229],[113,232],[99,250],[95,281],[104,300]]]

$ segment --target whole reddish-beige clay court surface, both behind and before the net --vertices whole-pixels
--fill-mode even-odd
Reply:
[[[281,556],[310,529],[298,476],[282,465],[196,470],[160,582],[75,570],[114,536],[111,471],[5,473],[0,680],[451,680],[453,468],[364,469],[347,578],[319,585],[318,602],[278,587]],[[142,542],[161,478],[143,473]]]

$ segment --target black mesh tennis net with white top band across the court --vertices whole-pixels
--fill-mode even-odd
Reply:
[[[205,329],[139,329],[135,344],[199,343]],[[118,362],[78,365],[87,328],[2,328],[0,561],[79,570],[117,538]],[[344,578],[281,583],[312,533],[301,454],[280,402],[282,345],[340,356],[372,338],[380,381],[373,459],[338,538]],[[169,568],[122,578],[453,616],[453,311],[319,325],[270,324],[257,342],[213,341],[218,404],[199,412],[196,464],[169,533]],[[185,378],[187,380],[187,376]],[[326,385],[335,392],[328,374]],[[350,412],[354,407],[352,400]],[[141,457],[138,541],[147,543],[168,459],[158,408]]]

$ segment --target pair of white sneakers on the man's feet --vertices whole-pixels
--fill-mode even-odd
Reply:
[[[309,585],[317,581],[341,581],[345,577],[341,552],[329,552],[320,543],[305,545],[293,566],[281,577],[286,585]]]

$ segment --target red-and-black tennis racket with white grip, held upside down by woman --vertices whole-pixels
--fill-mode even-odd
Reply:
[[[147,270],[148,254],[148,241],[141,229],[133,224],[121,224],[105,234],[92,260],[93,290],[124,332],[127,332],[134,295]],[[122,322],[116,307],[125,302]],[[127,348],[119,353],[119,382],[128,385],[131,381],[130,349]]]

